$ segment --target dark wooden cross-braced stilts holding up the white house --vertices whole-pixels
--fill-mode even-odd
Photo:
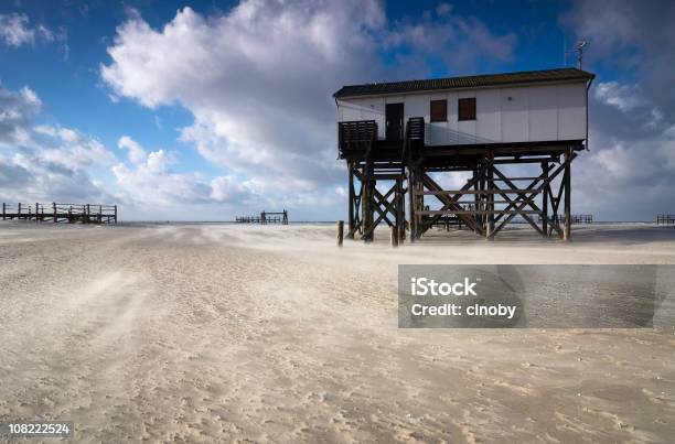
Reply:
[[[398,242],[405,239],[408,227],[410,239],[416,241],[438,226],[446,230],[464,226],[493,239],[516,219],[544,237],[556,231],[565,240],[571,238],[571,161],[580,151],[576,141],[427,149],[424,138],[419,138],[416,149],[406,144],[401,150],[374,134],[358,138],[358,147],[346,147],[352,151],[341,155],[349,172],[347,238],[358,231],[364,241],[372,241],[376,227],[386,223]],[[352,139],[347,139],[343,138],[343,142],[351,143]],[[540,166],[539,176],[521,172],[508,177],[499,171],[502,164],[525,163]],[[432,173],[461,172],[472,174],[461,189],[443,189],[431,178]],[[382,189],[384,183],[387,189]]]

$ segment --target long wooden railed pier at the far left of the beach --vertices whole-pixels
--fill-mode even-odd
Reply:
[[[2,204],[2,220],[35,220],[68,224],[117,224],[117,205],[99,204]]]

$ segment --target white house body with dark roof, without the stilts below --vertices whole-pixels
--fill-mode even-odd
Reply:
[[[427,145],[586,140],[591,77],[562,68],[345,86],[338,118],[375,120],[378,139],[390,140],[424,117]]]

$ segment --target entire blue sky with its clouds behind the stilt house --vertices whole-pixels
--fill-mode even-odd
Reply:
[[[331,98],[341,85],[559,67],[564,42],[586,37],[585,67],[598,75],[593,152],[575,171],[574,210],[649,220],[675,212],[673,85],[663,73],[674,61],[673,10],[7,1],[0,199],[115,201],[130,219],[229,219],[282,203],[298,218],[335,219],[346,208]],[[635,166],[647,151],[653,161]]]

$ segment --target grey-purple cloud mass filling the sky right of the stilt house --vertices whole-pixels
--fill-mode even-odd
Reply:
[[[591,41],[585,65],[611,66],[618,77],[592,87],[591,152],[572,169],[576,212],[651,220],[675,208],[673,20],[671,1],[577,1],[562,18]]]

